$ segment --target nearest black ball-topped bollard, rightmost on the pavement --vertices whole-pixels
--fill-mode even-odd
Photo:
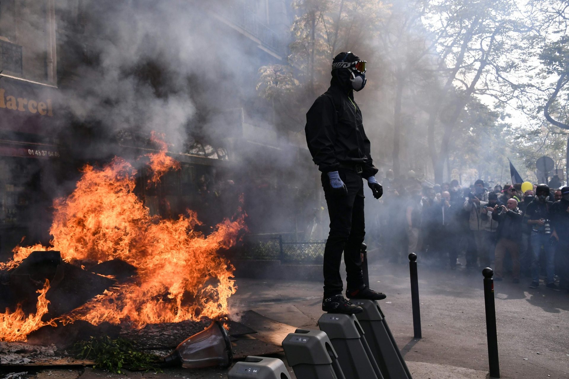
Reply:
[[[500,377],[500,363],[498,361],[498,336],[496,332],[496,306],[494,305],[494,271],[486,267],[482,270],[484,275],[484,303],[486,308],[486,337],[488,338],[488,363],[490,377]]]

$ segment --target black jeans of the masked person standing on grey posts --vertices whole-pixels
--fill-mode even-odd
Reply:
[[[348,188],[347,196],[332,194],[328,175],[321,177],[330,216],[330,233],[324,248],[324,297],[342,293],[342,253],[347,289],[358,289],[364,284],[360,256],[365,236],[364,183],[360,174],[354,171],[340,169],[339,173]]]

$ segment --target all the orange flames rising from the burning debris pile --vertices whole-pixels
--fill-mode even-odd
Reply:
[[[161,145],[160,152],[146,157],[154,184],[168,170],[180,168],[166,155],[166,144]],[[115,157],[102,168],[85,165],[82,172],[73,193],[53,204],[51,246],[17,247],[13,260],[0,264],[0,269],[17,266],[37,250],[60,251],[67,262],[122,259],[137,268],[135,282],[98,295],[65,315],[64,323],[81,319],[141,328],[147,323],[228,314],[228,298],[237,289],[232,280],[234,268],[217,251],[236,242],[245,224],[244,215],[225,219],[205,237],[194,231],[200,222],[191,210],[175,220],[151,215],[134,193],[137,170],[126,160]],[[0,323],[0,340],[8,340],[6,336],[13,330],[25,336],[43,326],[40,318],[47,311],[47,303],[43,309],[42,302],[40,310],[41,297],[40,293],[34,318],[24,320],[21,310],[0,314],[0,320],[13,320]],[[35,324],[29,321],[30,326],[24,328],[28,320],[35,320]]]

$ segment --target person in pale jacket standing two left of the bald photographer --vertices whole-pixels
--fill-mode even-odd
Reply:
[[[484,182],[477,180],[474,189],[468,194],[463,204],[463,209],[468,212],[468,226],[471,230],[474,245],[470,246],[466,254],[466,267],[477,268],[478,259],[480,264],[488,266],[488,258],[485,257],[485,220],[482,218],[482,210],[488,205],[488,191],[484,189]],[[487,254],[486,254],[487,255]]]

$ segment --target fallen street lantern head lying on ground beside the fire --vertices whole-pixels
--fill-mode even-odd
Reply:
[[[164,357],[164,364],[181,364],[183,368],[226,368],[232,359],[229,335],[220,322],[214,321],[207,329],[179,344],[173,353]]]

